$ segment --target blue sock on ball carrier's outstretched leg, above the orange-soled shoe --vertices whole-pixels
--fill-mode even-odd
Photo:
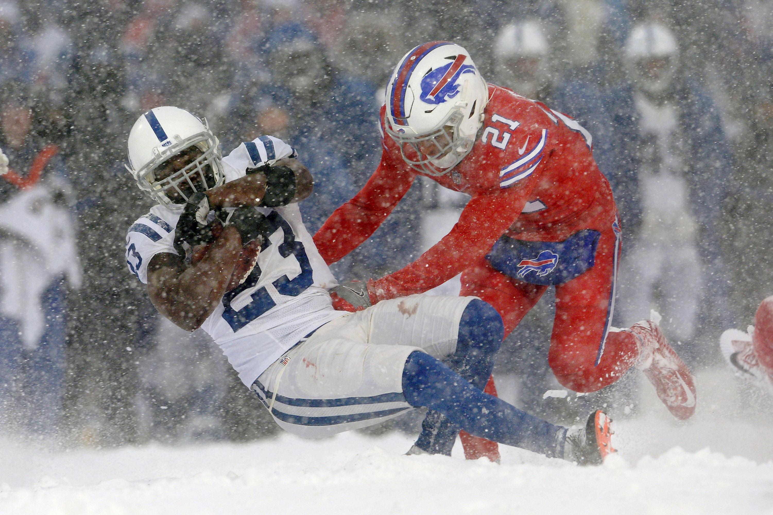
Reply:
[[[564,456],[566,428],[483,393],[424,352],[415,351],[408,357],[403,393],[410,405],[427,406],[471,435],[550,458]]]

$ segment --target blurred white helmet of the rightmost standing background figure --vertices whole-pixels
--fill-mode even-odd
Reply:
[[[658,95],[668,89],[679,64],[673,32],[656,22],[636,25],[625,42],[625,61],[635,86]]]

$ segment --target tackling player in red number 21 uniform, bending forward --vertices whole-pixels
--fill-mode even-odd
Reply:
[[[676,418],[693,415],[693,377],[656,321],[623,330],[610,325],[621,228],[587,130],[543,103],[485,83],[465,49],[441,41],[400,59],[380,118],[378,168],[314,237],[327,263],[373,234],[417,175],[472,198],[451,232],[414,263],[338,286],[342,309],[425,292],[461,273],[461,295],[492,304],[509,334],[555,286],[548,361],[562,385],[597,391],[636,367]],[[450,453],[455,429],[432,418],[417,446]],[[463,442],[472,449],[468,457],[496,456],[495,448]]]

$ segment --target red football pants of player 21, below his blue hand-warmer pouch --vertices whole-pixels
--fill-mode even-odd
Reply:
[[[630,333],[609,332],[614,307],[616,259],[620,242],[611,226],[601,232],[594,266],[556,286],[556,317],[547,361],[561,385],[574,391],[597,391],[618,380],[638,357]],[[512,332],[534,307],[547,286],[512,279],[484,259],[461,274],[461,295],[490,303]]]

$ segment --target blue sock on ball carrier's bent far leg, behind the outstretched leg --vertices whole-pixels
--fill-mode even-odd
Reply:
[[[456,351],[445,362],[478,390],[485,388],[505,327],[502,317],[489,304],[473,299],[461,313]],[[416,446],[431,454],[451,456],[459,428],[438,412],[427,412]]]

